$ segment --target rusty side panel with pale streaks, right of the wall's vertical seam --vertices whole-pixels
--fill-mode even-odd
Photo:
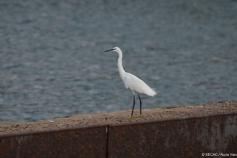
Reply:
[[[237,153],[237,115],[110,127],[110,158],[202,157]]]

